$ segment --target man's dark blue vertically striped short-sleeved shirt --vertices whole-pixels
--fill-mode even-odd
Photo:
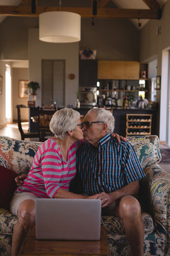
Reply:
[[[84,193],[111,193],[145,177],[129,142],[120,144],[107,134],[98,147],[84,142],[77,151],[77,171]]]

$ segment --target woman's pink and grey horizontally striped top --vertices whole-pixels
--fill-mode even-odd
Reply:
[[[40,198],[53,198],[59,188],[69,190],[76,174],[76,152],[79,142],[67,151],[67,161],[54,139],[47,139],[35,154],[28,176],[16,192],[30,192]]]

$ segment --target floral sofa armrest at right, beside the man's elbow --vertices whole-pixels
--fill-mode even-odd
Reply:
[[[170,175],[158,164],[144,171],[146,177],[140,183],[143,210],[152,214],[157,234],[170,241]]]

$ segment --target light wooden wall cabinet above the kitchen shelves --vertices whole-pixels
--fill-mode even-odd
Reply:
[[[137,61],[98,60],[98,79],[138,80],[140,63]]]

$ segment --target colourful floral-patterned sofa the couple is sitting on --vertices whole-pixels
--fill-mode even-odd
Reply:
[[[129,137],[146,177],[140,182],[139,200],[145,226],[144,255],[170,255],[170,175],[160,166],[157,136]],[[41,142],[0,137],[0,255],[11,255],[13,227],[17,222],[9,211],[16,189],[15,176],[28,173]],[[128,256],[130,246],[120,218],[103,216],[111,255]],[[136,255],[137,256],[137,255]]]

